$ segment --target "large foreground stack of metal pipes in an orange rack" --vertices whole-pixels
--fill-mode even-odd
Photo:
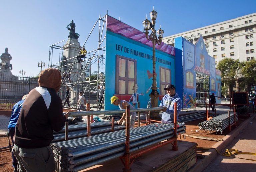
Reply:
[[[177,123],[177,135],[186,132],[184,123]],[[174,124],[149,124],[130,129],[130,153],[174,137]],[[56,171],[79,171],[123,156],[125,130],[51,144]]]

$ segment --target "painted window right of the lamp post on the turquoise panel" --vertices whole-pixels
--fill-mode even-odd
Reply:
[[[166,85],[171,83],[171,70],[167,68],[160,67],[160,90],[161,94],[165,95],[165,90],[164,88]]]

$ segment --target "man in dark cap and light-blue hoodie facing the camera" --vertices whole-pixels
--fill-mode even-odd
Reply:
[[[178,93],[175,92],[175,86],[172,84],[168,84],[166,88],[167,94],[164,95],[160,107],[164,107],[162,110],[162,120],[161,122],[164,124],[174,123],[174,103],[177,102],[177,120],[179,118],[179,113],[182,106],[181,98],[178,96]]]

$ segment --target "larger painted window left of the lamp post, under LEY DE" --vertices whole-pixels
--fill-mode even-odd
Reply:
[[[132,94],[137,83],[137,61],[116,55],[116,94]]]

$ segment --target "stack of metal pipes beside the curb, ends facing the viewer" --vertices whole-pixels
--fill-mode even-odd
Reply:
[[[216,116],[209,121],[204,121],[198,124],[200,130],[208,130],[210,132],[216,131],[218,134],[222,134],[222,132],[229,126],[235,123],[238,120],[237,113],[230,113],[230,117],[228,113]]]

